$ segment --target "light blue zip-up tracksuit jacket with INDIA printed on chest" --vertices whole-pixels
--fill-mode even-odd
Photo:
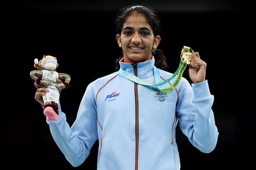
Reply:
[[[153,58],[136,66],[120,62],[120,66],[155,84],[154,62]],[[173,75],[159,71],[163,80]],[[60,105],[59,120],[47,123],[73,166],[86,160],[99,139],[98,170],[180,169],[175,128],[179,123],[201,152],[214,150],[219,133],[213,102],[207,80],[190,85],[182,78],[176,90],[161,93],[127,80],[117,71],[88,85],[71,128]]]

